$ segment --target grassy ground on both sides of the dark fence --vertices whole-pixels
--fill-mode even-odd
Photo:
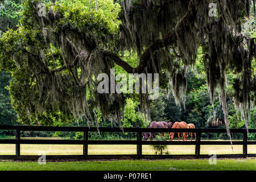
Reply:
[[[55,138],[61,139],[61,138]],[[234,154],[242,154],[242,146],[233,146]],[[152,147],[144,145],[143,154],[155,154]],[[201,146],[201,154],[233,154],[231,146]],[[71,144],[21,144],[21,155],[82,155],[82,145]],[[89,145],[88,154],[136,154],[135,145]],[[168,146],[169,154],[195,154],[195,146]],[[249,154],[256,154],[256,146],[248,146]],[[15,144],[0,144],[0,155],[15,155]],[[217,159],[216,165],[210,165],[208,159],[193,160],[109,160],[109,161],[69,161],[38,162],[1,161],[1,170],[253,170],[256,171],[256,159]]]

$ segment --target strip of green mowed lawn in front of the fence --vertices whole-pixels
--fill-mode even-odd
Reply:
[[[256,171],[256,159],[110,160],[79,162],[0,162],[0,171]]]

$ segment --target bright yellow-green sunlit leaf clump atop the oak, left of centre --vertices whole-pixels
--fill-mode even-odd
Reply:
[[[67,2],[67,1],[66,1]],[[87,2],[86,4],[84,2]],[[107,39],[108,35],[118,32],[118,4],[110,4],[111,1],[100,1],[101,8],[98,11],[90,11],[89,1],[68,1],[57,3],[55,10],[63,18],[57,23],[55,34],[60,34],[63,28],[69,30],[81,30],[97,32],[101,39]],[[112,6],[111,6],[112,5]],[[111,13],[113,11],[113,14]]]

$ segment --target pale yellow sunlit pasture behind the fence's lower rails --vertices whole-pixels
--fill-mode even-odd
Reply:
[[[136,154],[136,145],[89,145],[89,155],[100,154]],[[233,145],[234,152],[230,145],[201,145],[200,154],[242,154],[241,145]],[[82,145],[79,144],[21,144],[20,155],[82,155]],[[150,145],[143,145],[144,155],[155,154]],[[39,154],[40,153],[40,154]],[[194,145],[170,145],[169,154],[195,154]],[[256,154],[256,145],[248,146],[249,154]],[[15,155],[15,144],[0,144],[0,155]]]

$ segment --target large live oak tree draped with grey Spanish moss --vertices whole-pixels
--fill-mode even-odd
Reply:
[[[127,73],[159,73],[161,88],[170,78],[176,104],[185,105],[185,73],[202,47],[212,104],[218,90],[229,132],[225,84],[233,72],[234,101],[247,127],[256,104],[256,39],[242,34],[241,25],[250,7],[255,12],[255,1],[125,0],[120,9],[99,0],[98,10],[96,1],[56,1],[47,4],[45,16],[38,3],[25,1],[19,29],[0,40],[1,67],[14,77],[10,93],[19,119],[84,117],[89,123],[100,109],[120,124],[124,95],[97,92],[98,74],[110,75],[114,65]],[[137,54],[135,67],[123,59],[127,51]],[[150,113],[147,96],[139,94],[144,113]]]

